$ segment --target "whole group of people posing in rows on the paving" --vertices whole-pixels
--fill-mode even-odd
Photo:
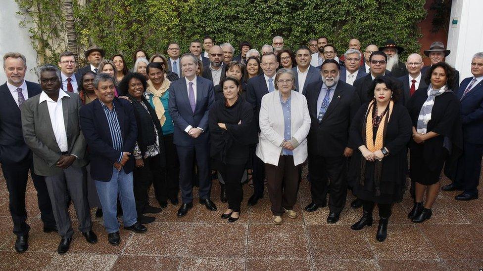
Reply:
[[[77,71],[71,52],[60,55],[58,67],[38,67],[40,85],[24,80],[22,54],[5,54],[0,160],[16,251],[28,249],[29,171],[44,232],[61,236],[59,254],[72,241],[70,202],[89,243],[97,242],[90,214],[97,207],[109,243],[117,245],[119,215],[124,229],[145,232],[155,220],[145,214],[161,212],[168,200],[179,204],[180,192],[177,215],[186,215],[193,186],[199,203],[217,210],[213,170],[221,201],[228,203],[222,219],[240,218],[243,176],[250,169],[248,205],[263,198],[266,181],[272,221],[280,225],[284,215],[297,217],[293,206],[307,161],[311,203],[304,210],[328,205],[327,222],[337,223],[350,190],[357,197],[351,207],[363,210],[351,229],[372,226],[377,204],[378,241],[386,239],[406,174],[414,198],[408,218],[415,223],[431,218],[443,166],[453,181],[444,191],[461,190],[457,200],[477,199],[483,52],[471,60],[473,77],[459,84],[441,42],[424,51],[427,67],[417,53],[402,63],[403,50],[389,39],[361,52],[359,40],[351,39],[338,54],[320,37],[291,51],[277,36],[261,52],[242,41],[234,56],[230,43],[218,46],[205,37],[182,55],[176,42],[168,45],[168,56],[137,50],[130,71],[122,54],[107,60],[93,45],[85,52],[89,64]],[[149,203],[151,185],[161,208]]]

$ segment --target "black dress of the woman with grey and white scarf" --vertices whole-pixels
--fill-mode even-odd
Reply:
[[[427,98],[428,88],[419,88],[407,104],[412,126],[415,128]],[[411,180],[422,185],[434,185],[439,181],[441,169],[449,153],[448,148],[451,150],[454,144],[453,135],[458,127],[461,130],[461,125],[455,125],[460,123],[459,117],[460,103],[453,92],[445,92],[435,97],[427,132],[435,132],[439,135],[419,144],[411,138],[409,143]]]

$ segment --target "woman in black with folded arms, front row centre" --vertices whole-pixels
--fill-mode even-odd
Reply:
[[[224,98],[216,101],[209,112],[211,158],[225,182],[228,197],[228,208],[221,217],[228,218],[228,222],[240,218],[241,177],[250,145],[258,140],[256,125],[252,122],[253,107],[241,97],[240,85],[238,79],[226,77],[221,82]]]

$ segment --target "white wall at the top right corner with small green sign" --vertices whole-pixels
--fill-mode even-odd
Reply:
[[[452,27],[453,19],[458,20]],[[483,0],[453,0],[446,61],[460,72],[460,80],[473,76],[471,58],[483,51]]]

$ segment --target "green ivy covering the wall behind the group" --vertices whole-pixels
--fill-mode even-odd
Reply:
[[[21,7],[41,5],[57,14],[60,1],[16,0]],[[64,0],[65,1],[65,0]],[[142,48],[152,55],[166,52],[169,41],[178,41],[183,52],[190,41],[210,35],[216,43],[230,42],[238,51],[242,40],[254,48],[271,44],[272,37],[283,36],[285,46],[297,48],[310,38],[324,35],[336,45],[339,54],[349,39],[362,46],[382,45],[394,39],[406,54],[419,52],[421,37],[417,23],[425,18],[426,0],[74,0],[78,44],[85,48],[97,44],[107,56],[123,53],[132,65],[132,54]],[[27,3],[27,4],[26,4]],[[49,6],[49,8],[46,8]],[[55,8],[54,8],[55,7]],[[30,14],[34,23],[41,22]],[[57,14],[58,15],[58,14]],[[62,14],[57,21],[62,21]],[[50,16],[51,17],[51,16]],[[40,17],[39,17],[40,18]],[[52,17],[51,17],[52,18]],[[37,24],[42,33],[51,24]],[[58,36],[55,36],[58,35]],[[61,33],[50,38],[63,39]],[[49,37],[33,37],[33,42],[49,43]],[[50,43],[49,43],[50,44]],[[45,47],[45,46],[44,46]],[[34,45],[39,54],[41,48]],[[55,49],[46,61],[61,51]],[[81,57],[83,59],[83,57]]]

